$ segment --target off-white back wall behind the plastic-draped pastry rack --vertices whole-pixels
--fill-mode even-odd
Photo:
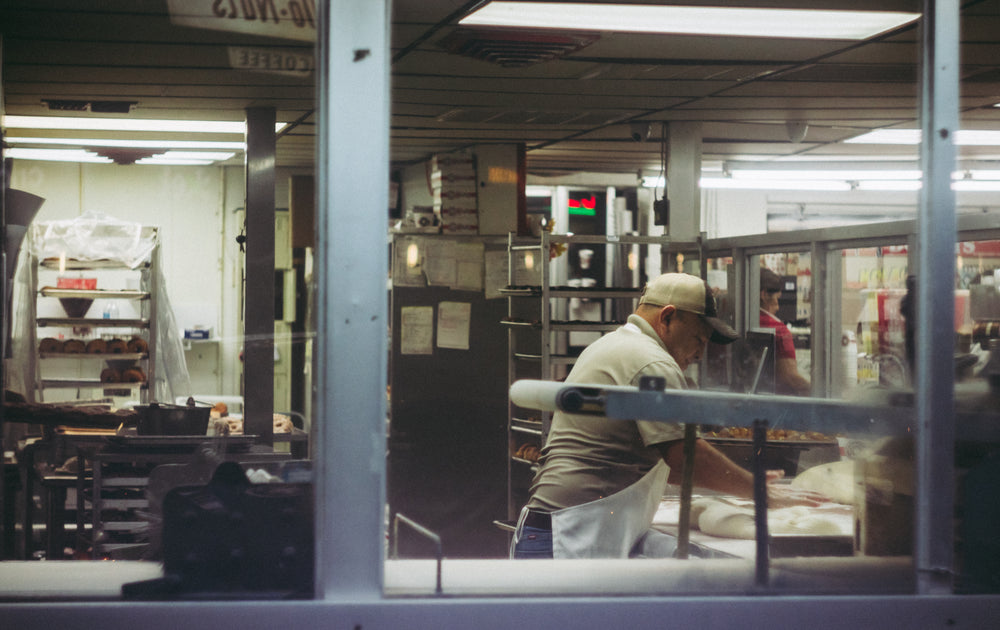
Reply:
[[[275,207],[288,207],[278,169]],[[122,166],[15,160],[11,186],[45,198],[36,221],[98,211],[160,229],[167,295],[180,327],[203,324],[216,341],[186,353],[195,393],[240,394],[242,166]]]

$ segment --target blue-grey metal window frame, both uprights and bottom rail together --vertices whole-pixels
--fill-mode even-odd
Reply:
[[[0,617],[10,627],[69,624],[129,628],[136,622],[164,627],[315,627],[510,628],[607,627],[661,623],[672,626],[730,627],[734,618],[766,615],[769,627],[859,625],[969,626],[989,619],[997,596],[940,597],[950,570],[951,497],[934,496],[948,484],[937,479],[950,462],[929,448],[931,438],[949,444],[947,432],[932,429],[921,448],[918,501],[918,594],[908,596],[782,596],[748,593],[732,596],[663,595],[601,597],[581,593],[566,597],[427,597],[389,599],[383,594],[385,506],[386,238],[388,181],[390,1],[332,0],[319,10],[319,182],[317,220],[319,277],[317,328],[316,559],[317,593],[310,601],[184,602],[35,602],[2,603]],[[954,0],[926,0],[924,65],[937,59],[933,81],[925,80],[921,112],[924,137],[929,130],[957,126],[958,6]],[[930,16],[929,18],[927,16]],[[938,19],[938,18],[941,19]],[[934,53],[929,56],[926,49]],[[941,74],[943,76],[936,76]],[[372,80],[376,77],[376,80]],[[928,88],[928,84],[931,88]],[[932,102],[933,101],[933,102]],[[944,110],[949,112],[942,120]],[[955,112],[954,120],[950,112]],[[952,134],[953,135],[953,134]],[[950,163],[944,146],[928,143],[925,178],[931,194],[921,199],[920,273],[933,293],[950,287],[952,267],[943,251],[954,247],[954,199],[947,194]],[[937,195],[937,196],[935,196]],[[934,212],[930,211],[934,207]],[[933,229],[930,229],[933,228]],[[377,245],[376,245],[377,244]],[[924,261],[923,259],[926,259]],[[954,261],[951,260],[951,265]],[[940,265],[940,266],[937,266]],[[947,281],[947,282],[946,282]],[[923,319],[937,311],[929,296],[920,301]],[[938,309],[939,310],[939,309]],[[360,318],[360,321],[359,321]],[[368,321],[364,321],[368,318]],[[936,321],[936,320],[935,320]],[[926,329],[926,327],[925,327]],[[354,334],[357,331],[357,334]],[[929,337],[929,332],[925,333]],[[934,340],[938,342],[940,340]],[[947,345],[947,344],[944,344]],[[950,349],[943,348],[942,352]],[[935,351],[937,352],[937,351]],[[936,354],[934,355],[936,356]],[[349,360],[340,360],[350,357]],[[919,418],[923,426],[940,403],[951,401],[949,365],[924,356]],[[944,391],[947,390],[947,391]],[[929,423],[933,425],[934,423]],[[939,423],[940,424],[940,423]],[[946,527],[947,525],[947,527]],[[935,540],[939,535],[940,539]],[[933,544],[932,544],[933,543]],[[504,561],[484,561],[504,562]],[[572,565],[570,565],[571,567]],[[568,567],[569,568],[569,567]],[[48,569],[47,569],[48,570]],[[530,567],[525,566],[525,570]],[[58,567],[51,568],[53,573]],[[662,621],[661,621],[662,620]]]

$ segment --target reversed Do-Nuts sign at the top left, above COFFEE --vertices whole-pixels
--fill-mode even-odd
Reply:
[[[219,31],[315,41],[314,0],[167,0],[170,21]]]

